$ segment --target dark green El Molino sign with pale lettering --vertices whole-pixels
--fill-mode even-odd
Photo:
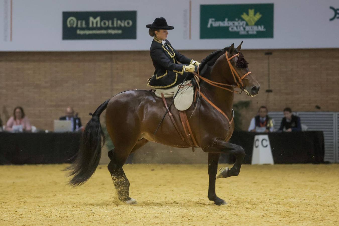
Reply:
[[[62,12],[62,39],[136,39],[137,11]]]

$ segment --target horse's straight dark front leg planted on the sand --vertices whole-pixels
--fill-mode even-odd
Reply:
[[[208,153],[208,199],[218,206],[227,204],[224,200],[217,197],[215,193],[215,180],[218,171],[219,156],[219,153]]]

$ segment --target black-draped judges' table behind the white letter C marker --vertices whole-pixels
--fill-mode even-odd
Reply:
[[[255,135],[268,135],[274,163],[323,163],[324,135],[322,131],[256,133],[236,131],[231,143],[244,148],[244,164],[251,164]],[[229,157],[230,160],[233,157]],[[232,162],[232,161],[231,161]]]

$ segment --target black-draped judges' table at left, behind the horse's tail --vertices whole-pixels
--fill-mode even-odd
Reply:
[[[0,132],[0,165],[71,162],[80,133]]]

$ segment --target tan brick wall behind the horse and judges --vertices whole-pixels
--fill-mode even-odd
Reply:
[[[270,50],[271,51],[271,50]],[[201,61],[212,50],[182,51]],[[243,125],[259,106],[271,111],[289,106],[295,111],[339,111],[339,49],[272,50],[271,89],[265,93],[265,50],[244,50],[252,74],[261,85],[259,95],[244,93],[235,101],[250,100],[242,112]],[[32,124],[53,129],[53,119],[68,105],[79,112],[83,124],[88,113],[126,89],[148,89],[154,68],[148,51],[137,52],[0,52],[0,115],[6,121],[15,106],[22,106]]]

